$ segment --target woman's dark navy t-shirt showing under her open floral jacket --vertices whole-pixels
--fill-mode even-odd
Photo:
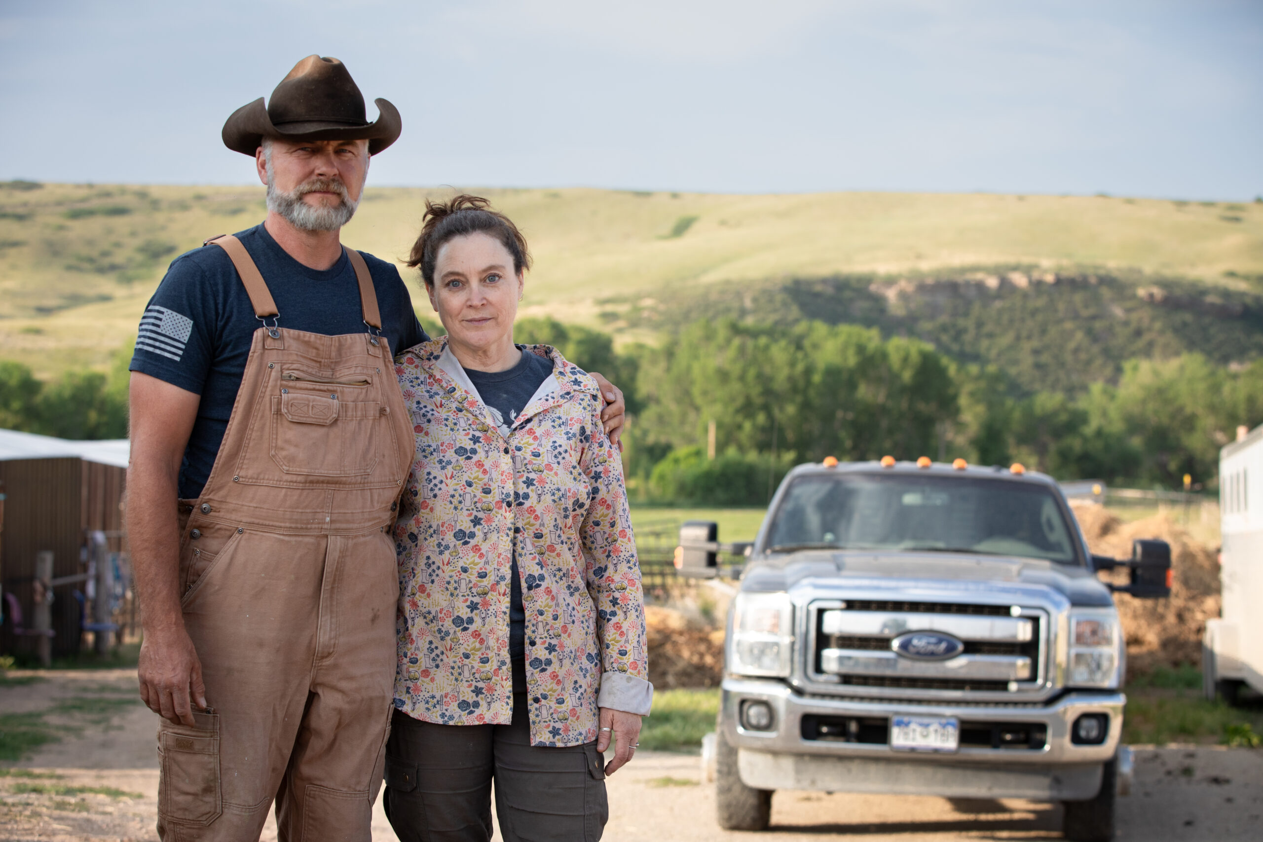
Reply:
[[[522,346],[519,345],[520,350]],[[496,415],[496,425],[508,434],[527,403],[552,374],[552,361],[529,351],[505,371],[475,371],[465,369],[479,396]],[[527,611],[522,603],[522,582],[518,574],[518,554],[509,566],[509,659],[513,668],[513,691],[527,692]]]

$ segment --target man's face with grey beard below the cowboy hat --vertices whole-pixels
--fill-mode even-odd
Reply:
[[[350,221],[369,170],[368,140],[273,140],[255,153],[268,210],[298,228],[335,231]]]

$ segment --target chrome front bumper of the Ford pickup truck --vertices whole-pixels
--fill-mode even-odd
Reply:
[[[765,702],[772,726],[741,725],[741,707]],[[1100,789],[1101,766],[1118,751],[1122,693],[1067,693],[1046,706],[908,704],[796,693],[775,680],[726,678],[720,727],[739,750],[741,780],[755,789],[903,793],[947,798],[1084,800]],[[1074,722],[1085,713],[1109,717],[1105,740],[1077,745]],[[954,752],[892,750],[884,742],[806,738],[803,717],[888,720],[895,715],[956,717],[964,723],[1043,726],[1042,747],[971,747]]]

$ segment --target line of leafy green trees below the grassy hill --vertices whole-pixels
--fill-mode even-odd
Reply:
[[[793,465],[826,456],[1018,461],[1061,480],[1168,489],[1187,473],[1205,487],[1236,427],[1263,423],[1263,360],[1130,360],[1116,382],[1063,394],[855,324],[702,319],[658,346],[616,350],[604,332],[532,318],[515,338],[553,345],[624,389],[629,486],[664,502],[763,504]],[[126,436],[128,360],[130,348],[106,374],[75,370],[47,384],[0,362],[0,427]]]

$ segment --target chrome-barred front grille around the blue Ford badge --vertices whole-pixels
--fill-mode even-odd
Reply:
[[[844,687],[1008,693],[1043,680],[1045,615],[1005,605],[846,600],[816,603],[808,678]],[[945,655],[912,656],[909,632],[949,639]],[[951,640],[955,639],[955,640]]]

